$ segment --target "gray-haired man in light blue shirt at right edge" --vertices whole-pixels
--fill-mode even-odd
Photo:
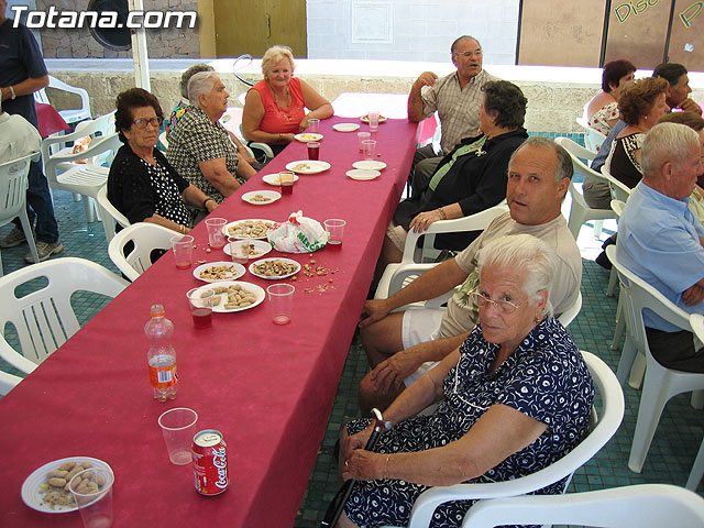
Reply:
[[[690,314],[704,314],[704,228],[688,197],[704,173],[696,132],[684,124],[653,127],[642,145],[642,180],[618,222],[620,261]],[[668,369],[704,372],[704,351],[693,334],[644,312],[652,355]]]

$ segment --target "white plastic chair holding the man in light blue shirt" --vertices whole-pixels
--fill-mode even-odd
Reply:
[[[688,331],[692,330],[690,316],[628,270],[618,258],[615,245],[609,245],[606,249],[606,255],[618,271],[622,317],[626,319],[626,342],[616,371],[619,382],[626,381],[637,352],[646,356],[646,378],[628,459],[628,468],[640,473],[666,404],[678,394],[704,389],[704,374],[667,369],[656,361],[650,353],[646,338],[646,326],[642,320],[644,308],[648,308],[670,323]]]

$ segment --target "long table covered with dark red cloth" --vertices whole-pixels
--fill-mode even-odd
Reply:
[[[295,142],[212,215],[283,221],[302,210],[321,222],[348,221],[339,250],[287,255],[301,264],[315,260],[329,272],[298,274],[290,323],[273,324],[265,301],[215,314],[211,328],[196,330],[185,293],[204,283],[193,267],[177,270],[164,255],[0,400],[0,526],[79,526],[77,513],[41,514],[20,496],[32,471],[66,457],[95,457],[112,466],[114,526],[293,526],[416,144],[417,125],[389,119],[374,134],[377,160],[387,168],[375,180],[352,180],[345,172],[360,160],[356,134],[333,131],[338,122],[359,118],[321,122],[320,158],[332,164],[328,172],[301,175],[292,196],[271,205],[241,200],[244,191],[272,188],[263,174],[307,158],[306,145]],[[207,251],[202,222],[193,234],[195,261],[227,260],[220,250]],[[249,273],[241,280],[271,284]],[[147,376],[143,328],[154,302],[166,307],[176,328],[179,389],[167,404],[152,398]],[[156,420],[172,407],[191,407],[199,429],[223,432],[231,479],[224,494],[198,495],[191,468],[168,462]]]

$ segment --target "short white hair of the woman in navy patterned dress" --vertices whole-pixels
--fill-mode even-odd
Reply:
[[[476,268],[503,267],[518,270],[522,275],[522,290],[530,302],[540,299],[539,292],[547,290],[548,298],[552,288],[558,255],[542,240],[531,234],[512,234],[492,240],[477,255]],[[552,304],[548,299],[543,316],[552,316]]]

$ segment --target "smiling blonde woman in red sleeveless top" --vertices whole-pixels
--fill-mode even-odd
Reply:
[[[332,116],[332,105],[308,82],[294,77],[295,68],[290,47],[270,47],[262,57],[264,79],[248,91],[244,101],[244,139],[267,143],[274,154],[306,130],[309,119]]]

